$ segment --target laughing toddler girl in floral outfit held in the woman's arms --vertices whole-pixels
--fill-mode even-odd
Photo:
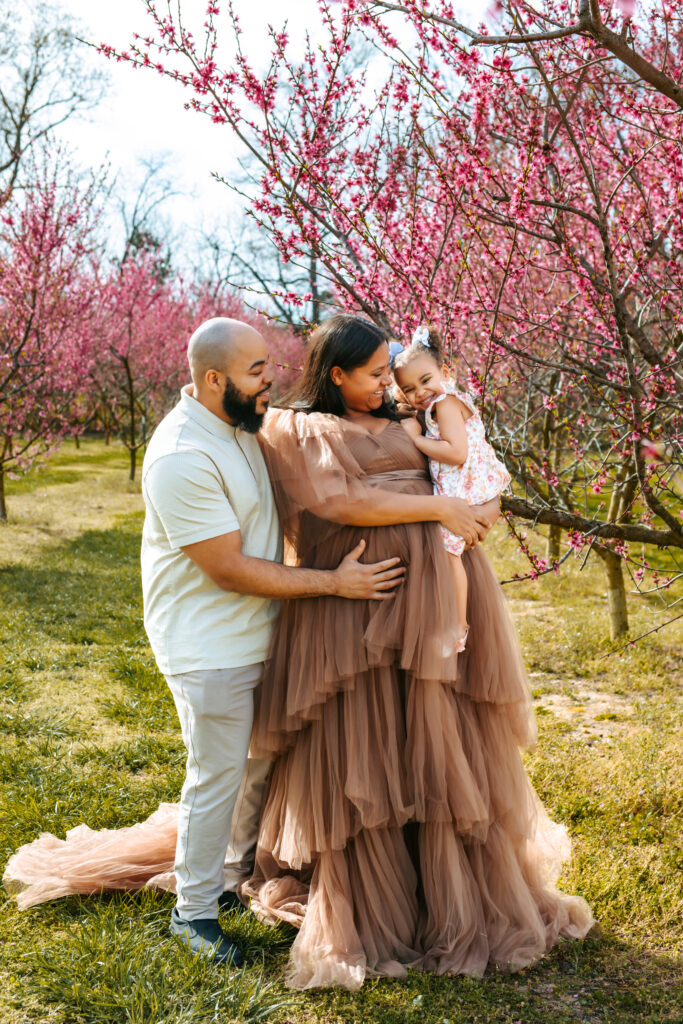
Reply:
[[[498,498],[510,474],[486,441],[472,398],[443,375],[443,347],[433,328],[421,326],[409,348],[392,360],[393,376],[407,402],[425,414],[426,436],[415,419],[402,420],[418,449],[429,458],[434,492],[483,505]],[[443,529],[443,528],[442,528]],[[467,575],[460,556],[462,537],[443,529],[458,595],[458,650],[467,640]]]

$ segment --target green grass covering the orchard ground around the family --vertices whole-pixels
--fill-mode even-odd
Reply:
[[[10,484],[0,528],[0,869],[40,831],[113,827],[177,799],[183,749],[141,625],[141,503],[121,449],[67,445]],[[537,542],[535,542],[537,543]],[[542,541],[539,540],[541,545]],[[497,571],[523,572],[505,531]],[[585,896],[601,934],[563,942],[520,974],[482,981],[412,972],[358,993],[292,993],[293,933],[248,913],[222,923],[240,972],[190,957],[168,933],[168,894],[2,905],[3,1024],[574,1024],[680,1021],[682,785],[677,749],[683,631],[618,653],[605,639],[599,564],[506,587],[536,698],[526,765],[572,837],[562,886]],[[634,635],[661,621],[632,601]]]

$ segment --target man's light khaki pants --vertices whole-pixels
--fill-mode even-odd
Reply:
[[[167,676],[187,749],[175,851],[177,911],[218,916],[248,871],[269,762],[248,758],[263,665]]]

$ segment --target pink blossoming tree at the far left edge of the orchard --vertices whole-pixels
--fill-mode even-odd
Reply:
[[[24,472],[74,432],[74,401],[93,358],[98,183],[53,164],[2,210],[0,247],[0,519],[5,476]]]

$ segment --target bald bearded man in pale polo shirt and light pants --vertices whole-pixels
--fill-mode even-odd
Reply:
[[[249,869],[268,763],[248,760],[254,699],[279,598],[386,600],[398,559],[334,570],[282,564],[283,543],[256,434],[272,374],[264,339],[216,317],[189,340],[193,383],[159,424],[142,466],[144,626],[187,750],[171,931],[238,966],[218,925]]]

